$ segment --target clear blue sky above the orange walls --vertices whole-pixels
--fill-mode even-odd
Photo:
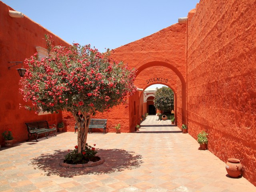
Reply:
[[[199,0],[2,0],[72,44],[100,52],[158,32],[186,17]]]

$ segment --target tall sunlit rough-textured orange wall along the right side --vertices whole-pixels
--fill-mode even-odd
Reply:
[[[188,129],[256,185],[256,3],[201,0],[188,26]]]

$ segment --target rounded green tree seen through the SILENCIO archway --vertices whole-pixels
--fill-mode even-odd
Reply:
[[[155,108],[164,111],[164,114],[170,114],[174,110],[174,93],[171,88],[166,86],[162,88],[156,88]]]

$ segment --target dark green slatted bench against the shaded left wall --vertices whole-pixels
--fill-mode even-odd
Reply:
[[[48,138],[48,135],[50,134],[50,132],[52,132],[56,136],[55,133],[57,130],[56,130],[55,124],[49,125],[47,121],[38,121],[38,122],[31,122],[31,123],[25,123],[25,124],[27,125],[27,128],[28,128],[28,140],[32,135],[34,135],[36,141],[38,141],[37,138],[40,134],[44,134],[45,137]],[[49,126],[51,126],[52,128],[50,128]]]

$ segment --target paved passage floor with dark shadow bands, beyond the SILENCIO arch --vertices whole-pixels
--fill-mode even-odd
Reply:
[[[146,120],[140,124],[140,132],[142,133],[168,133],[168,132],[177,132],[181,133],[182,131],[174,124],[171,120],[158,120],[156,115],[148,115]]]

